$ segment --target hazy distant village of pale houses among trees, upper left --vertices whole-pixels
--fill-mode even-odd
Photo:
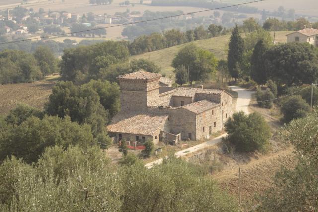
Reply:
[[[14,10],[24,10],[24,14],[15,15]],[[32,8],[17,7],[1,12],[0,35],[28,36],[43,33],[43,28],[47,26],[71,28],[73,24],[80,24],[82,28],[92,28],[96,24],[124,24],[138,21],[141,17],[140,12],[123,12],[115,15],[88,13],[81,16],[70,12],[44,12],[41,9],[39,12],[35,12]],[[49,32],[49,34],[54,34],[54,32]]]

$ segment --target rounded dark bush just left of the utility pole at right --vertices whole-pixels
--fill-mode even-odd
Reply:
[[[293,119],[303,118],[310,111],[310,106],[300,95],[288,97],[282,104],[283,121],[289,123]]]

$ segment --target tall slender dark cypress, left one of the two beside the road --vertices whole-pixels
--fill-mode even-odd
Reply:
[[[239,35],[239,29],[236,25],[231,35],[228,51],[228,69],[231,76],[237,80],[239,73],[237,72],[236,66],[240,64],[243,58],[244,52],[244,41]]]

